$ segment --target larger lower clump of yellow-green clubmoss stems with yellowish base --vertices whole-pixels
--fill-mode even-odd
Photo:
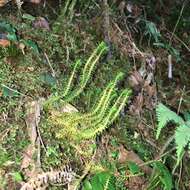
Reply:
[[[51,122],[59,128],[56,136],[80,142],[94,139],[110,126],[124,107],[130,93],[129,90],[123,90],[112,103],[114,97],[117,96],[115,86],[121,75],[121,73],[117,75],[116,79],[106,87],[99,102],[89,113],[54,112],[51,116]]]

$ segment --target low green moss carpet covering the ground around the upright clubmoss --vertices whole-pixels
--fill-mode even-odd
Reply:
[[[19,189],[20,182],[27,180],[20,168],[24,151],[30,144],[25,122],[25,104],[41,97],[47,99],[52,94],[61,94],[76,60],[80,58],[84,65],[97,45],[104,40],[104,36],[98,28],[98,25],[101,25],[101,22],[99,22],[101,20],[101,8],[96,3],[88,3],[91,6],[96,5],[95,8],[80,3],[79,7],[76,8],[76,15],[73,17],[72,14],[72,19],[69,13],[67,13],[68,15],[61,14],[64,5],[62,8],[58,8],[59,5],[56,5],[57,7],[54,7],[53,10],[48,7],[48,10],[52,10],[50,14],[47,14],[47,10],[44,9],[44,14],[49,19],[50,31],[34,28],[30,19],[22,18],[22,14],[27,12],[28,7],[22,14],[15,10],[14,12],[9,11],[8,14],[7,12],[2,12],[0,16],[0,21],[6,21],[16,29],[16,35],[19,39],[31,40],[37,44],[37,46],[26,46],[24,53],[20,48],[21,41],[13,41],[8,48],[0,48],[0,180],[2,189],[6,189],[6,186],[7,189]],[[115,10],[117,6],[115,6],[114,3],[111,6],[113,11],[111,14],[114,19],[117,18],[118,14],[118,11]],[[11,8],[11,10],[13,9]],[[84,16],[85,11],[87,14]],[[30,11],[27,13],[30,13]],[[42,13],[43,11],[39,9],[36,11],[36,15],[33,16],[38,16]],[[122,26],[123,23],[121,24]],[[136,36],[136,38],[139,40],[139,36]],[[147,41],[145,37],[141,44],[141,49],[148,49],[148,51],[154,52],[154,55],[159,57],[161,50],[156,50],[152,46],[147,48]],[[124,79],[117,85],[117,93],[119,94],[122,89],[129,87],[127,79],[134,69],[134,63],[132,58],[123,54],[123,44],[120,45],[121,47],[117,46],[117,44],[113,45],[111,59],[108,60],[106,54],[100,58],[86,88],[79,97],[72,101],[72,105],[80,112],[84,113],[92,110],[103,89],[116,77],[117,73],[123,72],[125,75]],[[178,47],[177,45],[176,48]],[[38,51],[35,51],[34,47]],[[184,51],[186,52],[186,50]],[[186,63],[186,59],[185,53],[184,63]],[[161,61],[164,62],[164,60]],[[138,60],[136,64],[137,67],[140,67],[142,63]],[[174,77],[173,81],[169,82],[170,87],[167,86],[163,82],[164,79],[167,80],[166,69],[163,69],[166,65],[167,62],[164,62],[162,66],[158,66],[156,75],[158,93],[160,93],[159,99],[168,100],[176,108],[181,97],[180,89],[187,84],[189,79],[186,75],[180,76],[179,80],[182,81],[180,83],[177,76]],[[179,73],[183,73],[183,69],[188,70],[187,65],[180,66],[181,69],[176,66],[174,75],[180,75]],[[180,72],[178,72],[179,70]],[[79,78],[80,74],[77,74],[75,76],[75,85],[79,83]],[[176,96],[173,97],[172,87],[176,85],[179,87],[180,92],[176,91]],[[189,108],[188,87],[185,90],[183,93],[185,105],[182,105],[181,109]],[[118,190],[127,189],[127,187],[130,189],[127,180],[133,175],[141,174],[139,171],[128,174],[127,172],[133,171],[134,167],[129,166],[125,161],[124,164],[118,162],[121,159],[119,156],[123,153],[121,146],[124,146],[125,149],[133,150],[138,154],[139,160],[144,162],[154,160],[155,155],[160,151],[159,143],[157,144],[154,139],[155,115],[146,108],[143,108],[140,117],[128,113],[134,97],[135,92],[111,128],[104,131],[101,137],[97,137],[96,146],[91,147],[93,150],[97,148],[97,154],[95,155],[96,167],[92,167],[89,174],[96,174],[98,169],[113,172],[115,176],[119,176],[115,182],[117,184],[115,188]],[[87,164],[89,158],[85,160],[85,156],[80,155],[80,151],[72,148],[69,142],[57,139],[53,130],[54,126],[48,122],[48,117],[47,110],[43,110],[39,125],[41,139],[45,146],[41,146],[41,168],[43,171],[50,171],[70,163],[77,175],[83,175],[83,170],[86,169],[85,164]],[[168,134],[170,133],[168,132]],[[161,141],[165,142],[165,139],[167,139],[167,135],[163,136]],[[85,144],[81,146],[86,147]],[[35,157],[37,155],[34,155],[34,159]],[[122,157],[127,160],[125,156]],[[171,157],[168,156],[168,159],[171,159]],[[143,163],[140,164],[143,165]],[[153,165],[150,166],[153,167]],[[167,166],[170,168],[170,164],[167,163]],[[125,175],[129,177],[122,178]],[[90,181],[90,175],[87,176],[87,179],[89,181],[87,180],[86,184],[92,182]],[[145,181],[147,183],[148,178]],[[129,183],[135,186],[136,182]],[[62,187],[52,185],[49,189],[62,189]]]

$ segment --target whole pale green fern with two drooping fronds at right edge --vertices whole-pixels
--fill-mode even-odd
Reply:
[[[190,142],[190,119],[186,117],[184,120],[182,117],[171,111],[162,103],[158,104],[156,108],[156,115],[158,119],[158,128],[156,138],[158,139],[161,130],[169,123],[173,122],[177,125],[175,130],[175,143],[177,149],[177,164],[180,162],[184,153],[184,148],[189,146]],[[190,149],[190,147],[188,147]]]

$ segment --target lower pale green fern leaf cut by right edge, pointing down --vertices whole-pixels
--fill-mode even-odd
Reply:
[[[177,162],[179,163],[184,148],[190,142],[190,127],[188,125],[183,124],[177,128],[177,130],[175,131],[175,142],[177,146]]]

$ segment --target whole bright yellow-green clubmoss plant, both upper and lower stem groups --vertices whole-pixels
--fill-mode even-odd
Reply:
[[[52,109],[55,105],[62,104],[63,107],[72,103],[73,99],[78,97],[83,92],[87,82],[89,81],[95,64],[100,56],[105,52],[106,46],[101,43],[90,58],[85,63],[82,74],[79,79],[79,85],[72,87],[74,75],[78,70],[80,61],[77,61],[73,72],[68,80],[61,95],[52,96],[47,100],[45,105],[51,110],[49,117],[50,123],[54,126],[55,135],[59,139],[69,140],[74,144],[81,143],[85,140],[94,140],[100,135],[113,121],[117,118],[120,111],[127,102],[130,95],[130,90],[124,89],[117,94],[116,85],[123,77],[119,73],[113,81],[111,81],[102,92],[98,103],[87,113],[81,112],[61,112]]]

